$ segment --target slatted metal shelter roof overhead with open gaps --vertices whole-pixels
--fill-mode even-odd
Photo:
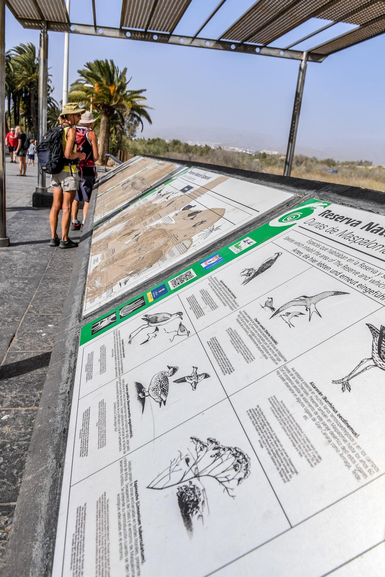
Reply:
[[[39,28],[42,20],[47,21],[48,30],[74,33],[106,35],[115,38],[130,38],[148,42],[234,50],[248,54],[271,55],[298,59],[301,51],[290,50],[296,46],[268,48],[275,40],[292,31],[310,18],[322,18],[330,24],[305,36],[311,38],[318,31],[339,22],[356,25],[357,28],[328,40],[308,50],[309,60],[321,62],[329,54],[343,50],[353,44],[364,42],[385,32],[385,0],[259,0],[249,8],[218,40],[197,38],[204,26],[220,11],[226,0],[220,0],[210,16],[202,16],[202,25],[194,36],[178,38],[174,29],[180,22],[191,0],[122,0],[120,25],[116,28],[97,28],[95,3],[92,0],[94,25],[70,24],[65,0],[6,0],[13,15],[25,28]],[[70,29],[70,26],[72,29]],[[159,32],[157,38],[152,32]],[[298,38],[297,43],[303,40]],[[234,42],[236,44],[231,44]],[[257,44],[255,49],[252,45]]]

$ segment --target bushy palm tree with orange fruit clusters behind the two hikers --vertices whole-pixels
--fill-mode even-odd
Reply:
[[[117,132],[124,131],[127,117],[139,123],[142,130],[143,118],[152,124],[147,112],[149,106],[144,104],[147,100],[143,96],[145,89],[129,90],[127,87],[131,78],[127,80],[127,69],[119,70],[113,60],[87,62],[85,67],[77,72],[80,78],[71,85],[68,99],[80,102],[87,108],[92,103],[92,108],[96,111],[95,117],[100,115],[99,163],[104,164],[109,152],[111,127]],[[87,87],[87,84],[92,87]]]

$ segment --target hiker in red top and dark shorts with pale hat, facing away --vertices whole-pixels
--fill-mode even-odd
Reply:
[[[92,113],[87,110],[81,116],[79,125],[76,126],[77,149],[85,153],[85,159],[80,160],[77,165],[79,168],[79,190],[77,190],[72,203],[71,230],[80,230],[81,226],[83,226],[89,207],[89,199],[91,198],[92,189],[95,184],[95,162],[99,159],[99,151],[98,140],[94,130],[92,130],[93,122],[95,122],[95,118],[92,116]],[[83,222],[77,220],[80,200],[84,201]]]

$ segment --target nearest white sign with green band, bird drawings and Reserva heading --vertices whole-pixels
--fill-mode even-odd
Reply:
[[[383,559],[384,233],[310,200],[83,327],[54,577]]]

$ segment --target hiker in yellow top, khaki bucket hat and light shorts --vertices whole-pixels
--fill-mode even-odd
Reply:
[[[81,115],[85,112],[79,104],[68,103],[63,106],[59,116],[59,125],[63,127],[63,155],[66,164],[58,174],[51,174],[51,186],[54,200],[50,212],[51,241],[50,246],[59,246],[61,249],[69,249],[77,246],[68,238],[69,225],[71,220],[71,205],[79,188],[79,175],[77,172],[77,161],[85,159],[84,152],[77,152],[76,130],[73,128],[80,121]],[[57,235],[58,216],[62,209],[62,238]]]

